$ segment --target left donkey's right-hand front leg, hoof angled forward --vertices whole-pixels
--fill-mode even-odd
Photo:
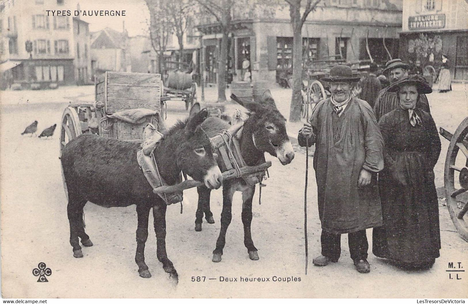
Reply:
[[[166,209],[165,203],[153,206],[154,232],[156,232],[156,257],[162,263],[162,268],[170,274],[171,278],[178,280],[178,274],[174,264],[169,260],[166,253]]]

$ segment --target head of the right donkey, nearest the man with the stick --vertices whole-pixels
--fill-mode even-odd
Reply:
[[[231,99],[250,111],[244,124],[244,136],[250,131],[257,150],[268,152],[287,165],[294,158],[294,150],[286,133],[286,119],[279,113],[270,90],[266,90],[260,102],[241,101],[234,94]]]

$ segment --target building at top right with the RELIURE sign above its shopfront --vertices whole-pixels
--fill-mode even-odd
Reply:
[[[421,61],[436,73],[442,54],[453,80],[468,80],[468,2],[466,0],[403,0],[400,55]]]

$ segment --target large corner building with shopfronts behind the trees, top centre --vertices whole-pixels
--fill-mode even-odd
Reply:
[[[250,61],[252,80],[276,80],[292,71],[292,26],[284,1],[268,14],[234,15],[228,43],[228,70],[239,79],[242,61]],[[263,9],[264,10],[264,9]],[[302,11],[301,11],[302,12]],[[242,18],[241,16],[244,16]],[[302,27],[303,60],[369,60],[383,63],[398,55],[402,0],[322,0]],[[216,82],[221,34],[215,22],[200,23],[208,82]],[[366,42],[367,41],[367,42]],[[387,50],[385,49],[387,48]],[[308,52],[306,51],[308,50]]]

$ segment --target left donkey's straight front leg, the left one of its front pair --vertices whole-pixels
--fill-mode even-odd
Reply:
[[[151,205],[138,204],[137,216],[137,252],[135,253],[135,262],[138,265],[138,273],[142,278],[150,278],[151,273],[145,263],[145,244],[148,239],[148,217]]]

